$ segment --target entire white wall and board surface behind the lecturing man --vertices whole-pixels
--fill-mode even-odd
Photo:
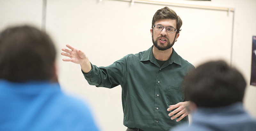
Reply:
[[[168,0],[157,0],[170,2]],[[204,6],[235,9],[233,48],[233,12],[168,6],[183,20],[174,49],[197,66],[210,59],[224,59],[236,66],[247,80],[244,104],[256,117],[256,87],[249,86],[251,75],[252,36],[256,35],[255,0],[172,0]],[[42,25],[42,0],[0,0],[0,29],[12,24]],[[103,131],[125,130],[121,87],[113,89],[90,86],[79,65],[63,62],[61,48],[66,44],[86,52],[94,65],[107,66],[130,53],[152,46],[151,21],[164,5],[116,0],[47,0],[46,31],[58,50],[59,81],[67,93],[86,100]],[[91,28],[95,26],[94,28]],[[232,52],[232,54],[231,54]],[[231,59],[232,58],[232,59]]]

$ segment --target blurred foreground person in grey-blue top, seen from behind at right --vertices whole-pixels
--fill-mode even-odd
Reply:
[[[246,82],[225,61],[210,61],[188,73],[185,98],[192,110],[189,127],[171,131],[255,131],[256,120],[243,107]]]

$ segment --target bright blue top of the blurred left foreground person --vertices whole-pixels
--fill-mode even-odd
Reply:
[[[98,131],[89,108],[50,81],[0,79],[0,131]]]

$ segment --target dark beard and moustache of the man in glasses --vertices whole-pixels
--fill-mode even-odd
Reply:
[[[163,36],[163,35],[161,35],[160,37],[156,38],[156,40],[154,40],[154,38],[153,38],[153,36],[154,36],[154,35],[153,35],[153,32],[154,32],[154,31],[152,31],[152,42],[153,42],[153,45],[154,45],[158,50],[160,50],[160,51],[165,51],[165,50],[167,50],[167,49],[170,49],[170,48],[174,45],[174,43],[175,43],[175,38],[176,38],[177,33],[175,34],[175,38],[173,39],[173,42],[172,42],[172,44],[171,44],[170,40],[169,40],[166,36]],[[167,45],[166,45],[166,46],[160,46],[160,44],[159,44],[159,45],[157,44],[159,38],[161,38],[161,37],[166,38],[166,40],[167,40]]]

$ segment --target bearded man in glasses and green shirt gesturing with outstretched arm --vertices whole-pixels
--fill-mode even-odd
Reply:
[[[182,59],[172,48],[180,35],[182,21],[164,7],[153,20],[153,46],[147,51],[129,54],[112,65],[92,65],[85,53],[70,45],[61,55],[63,61],[80,64],[90,85],[113,88],[121,85],[124,126],[126,131],[167,131],[188,121],[184,101],[183,77],[194,66]]]

